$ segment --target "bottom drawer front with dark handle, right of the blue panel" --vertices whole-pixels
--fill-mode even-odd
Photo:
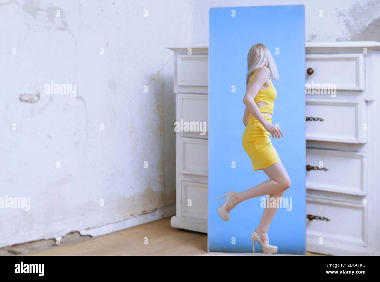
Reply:
[[[308,238],[323,238],[323,243],[367,245],[366,210],[362,204],[307,198],[306,214],[329,219],[306,219]]]

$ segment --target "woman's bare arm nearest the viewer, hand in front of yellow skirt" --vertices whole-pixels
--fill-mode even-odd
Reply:
[[[259,92],[260,88],[264,85],[267,80],[270,71],[266,67],[261,67],[255,74],[255,80],[248,84],[247,92],[243,98],[243,103],[245,104],[246,110],[252,114],[255,119],[260,122],[266,131],[272,134],[273,138],[280,138],[279,128],[273,124],[270,124],[263,114],[260,112],[258,106],[255,103],[255,97]],[[282,135],[282,132],[281,132]],[[282,135],[283,136],[283,135]]]

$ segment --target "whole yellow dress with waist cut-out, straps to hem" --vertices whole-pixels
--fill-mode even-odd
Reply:
[[[253,73],[253,77],[258,70]],[[271,77],[269,77],[270,85],[266,89],[259,90],[256,97],[255,103],[264,102],[267,105],[258,107],[260,112],[269,123],[272,123],[272,117],[266,115],[265,113],[270,113],[273,115],[274,100],[277,97],[277,91],[274,88]],[[271,138],[269,138],[270,133],[265,130],[263,125],[261,125],[258,120],[249,114],[248,124],[243,133],[242,143],[245,152],[249,155],[252,161],[253,170],[260,170],[263,168],[268,168],[274,163],[280,161],[279,155],[276,149],[271,143]]]

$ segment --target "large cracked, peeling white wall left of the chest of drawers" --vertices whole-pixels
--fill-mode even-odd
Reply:
[[[5,0],[0,18],[0,197],[30,197],[0,208],[0,247],[174,211],[165,47],[192,42],[192,2]],[[76,97],[45,94],[51,81]]]

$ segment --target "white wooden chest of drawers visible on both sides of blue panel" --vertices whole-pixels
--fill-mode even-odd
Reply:
[[[207,45],[169,49],[176,121],[207,122]],[[380,254],[380,43],[306,42],[305,76],[306,249]],[[171,225],[206,233],[207,133],[176,133],[176,177]]]

